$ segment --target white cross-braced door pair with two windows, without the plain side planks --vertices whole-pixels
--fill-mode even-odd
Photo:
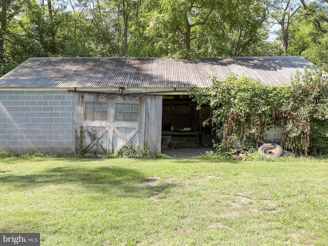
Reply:
[[[101,105],[95,99],[92,95],[84,99],[84,153],[106,155],[113,153],[115,149],[121,149],[126,144],[140,146],[139,121],[142,112],[140,113],[139,97],[138,100],[132,96],[131,98],[127,96],[114,99],[101,98]],[[105,105],[107,105],[107,117],[105,117]],[[91,110],[88,109],[89,106]],[[96,108],[95,111],[92,111],[93,106]],[[97,107],[103,107],[103,111],[99,113]],[[98,113],[103,116],[93,118]]]

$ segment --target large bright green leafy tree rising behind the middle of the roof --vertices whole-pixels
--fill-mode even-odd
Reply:
[[[137,23],[143,28],[135,26],[133,34],[156,56],[238,55],[261,39],[257,31],[264,10],[252,0],[148,0]],[[142,45],[133,45],[134,50],[143,50]]]

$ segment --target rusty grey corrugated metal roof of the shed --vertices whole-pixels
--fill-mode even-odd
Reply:
[[[209,76],[230,72],[268,85],[290,85],[292,74],[310,68],[303,57],[74,57],[29,58],[0,78],[0,88],[188,88],[206,87]]]

